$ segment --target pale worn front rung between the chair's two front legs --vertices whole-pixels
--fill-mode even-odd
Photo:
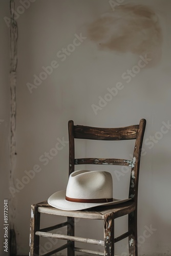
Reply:
[[[73,236],[67,236],[66,234],[56,234],[56,233],[36,231],[36,235],[41,237],[46,237],[46,238],[57,238],[57,239],[75,241],[75,242],[81,242],[81,243],[87,243],[87,244],[97,244],[102,246],[104,245],[104,241],[102,240],[73,237]]]

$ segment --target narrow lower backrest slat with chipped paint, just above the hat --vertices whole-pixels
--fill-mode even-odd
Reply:
[[[132,166],[132,160],[115,158],[76,158],[75,164],[110,164]]]

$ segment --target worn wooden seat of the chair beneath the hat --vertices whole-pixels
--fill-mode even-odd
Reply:
[[[96,220],[103,220],[106,214],[110,214],[112,212],[114,213],[114,218],[116,219],[126,214],[130,214],[136,208],[135,202],[132,201],[124,202],[114,206],[100,206],[87,210],[77,211],[67,211],[54,208],[51,205],[49,205],[47,201],[40,202],[37,204],[37,206],[38,212],[44,214]]]

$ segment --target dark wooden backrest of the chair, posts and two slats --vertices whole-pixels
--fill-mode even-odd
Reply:
[[[74,172],[77,164],[113,164],[131,166],[129,198],[137,203],[138,178],[141,158],[142,141],[145,131],[146,120],[141,119],[139,124],[119,127],[100,128],[84,125],[74,125],[70,120],[69,129],[69,175]],[[89,140],[135,140],[134,154],[132,160],[115,158],[79,158],[75,159],[75,139]]]

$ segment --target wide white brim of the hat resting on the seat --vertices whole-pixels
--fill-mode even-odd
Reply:
[[[109,206],[114,204],[120,204],[131,200],[131,198],[118,200],[113,198],[113,202],[109,203],[75,203],[66,200],[66,190],[61,190],[54,193],[48,199],[48,204],[61,210],[84,210],[96,206]]]

